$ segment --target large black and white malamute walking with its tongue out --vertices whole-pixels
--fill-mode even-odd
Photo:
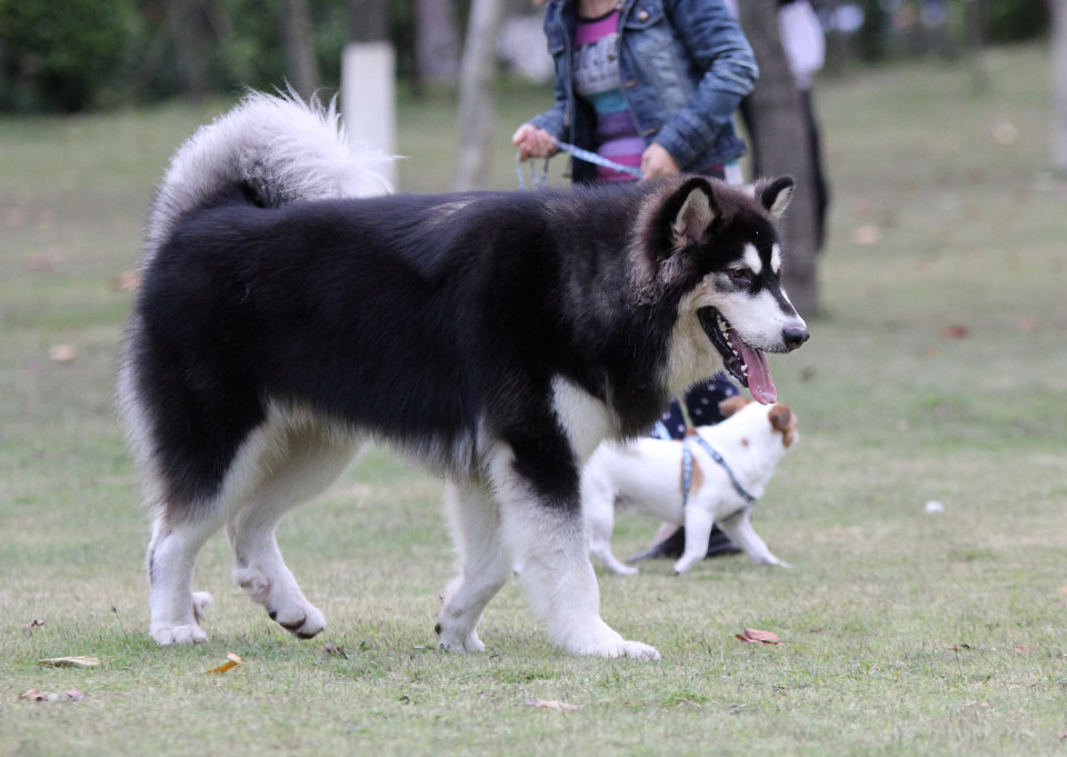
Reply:
[[[383,440],[448,480],[441,648],[483,649],[517,571],[567,651],[658,657],[600,618],[579,471],[724,366],[775,399],[764,352],[808,337],[772,223],[792,182],[393,196],[387,163],[346,147],[332,107],[252,94],[163,178],[119,376],[152,638],[207,638],[193,567],[222,526],[235,582],[321,631],[275,526]]]

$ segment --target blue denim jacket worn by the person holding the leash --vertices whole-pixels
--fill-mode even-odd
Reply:
[[[571,63],[577,2],[550,0],[548,51],[556,62],[556,104],[530,119],[557,139],[595,150],[596,113],[575,96]],[[619,20],[622,93],[646,146],[658,142],[684,171],[745,152],[734,111],[759,76],[752,50],[722,0],[624,0]],[[596,167],[574,161],[574,180]]]

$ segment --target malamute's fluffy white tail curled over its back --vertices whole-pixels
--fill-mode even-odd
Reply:
[[[281,96],[249,92],[174,153],[149,216],[142,265],[185,213],[235,187],[265,208],[388,195],[391,165],[391,156],[349,146],[336,98],[322,104],[313,97],[306,102],[291,89]]]

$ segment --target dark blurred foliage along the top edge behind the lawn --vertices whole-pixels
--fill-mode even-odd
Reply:
[[[527,0],[507,13],[538,10]],[[0,0],[0,111],[76,112],[174,97],[198,99],[286,79],[285,0]],[[343,46],[383,18],[401,81],[418,89],[420,34],[450,19],[462,39],[469,0],[438,0],[420,23],[419,0],[299,0],[320,83],[337,89]],[[820,0],[828,69],[916,54],[958,56],[976,46],[1048,32],[1047,0]],[[440,7],[448,6],[441,16]],[[441,54],[458,56],[458,50]]]

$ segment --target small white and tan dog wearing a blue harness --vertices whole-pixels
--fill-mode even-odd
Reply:
[[[697,428],[685,441],[605,442],[589,459],[581,506],[589,551],[605,568],[625,576],[637,572],[611,554],[617,505],[686,527],[676,574],[704,559],[715,524],[757,564],[789,567],[755,531],[751,511],[778,461],[799,438],[797,416],[788,405],[758,405],[744,397],[730,397],[719,407],[727,418]]]

